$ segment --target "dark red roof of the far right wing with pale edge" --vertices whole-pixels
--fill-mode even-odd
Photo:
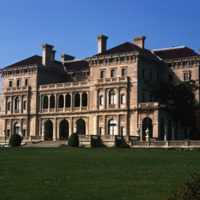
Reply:
[[[161,59],[178,59],[178,58],[185,58],[185,57],[193,57],[199,56],[196,52],[188,47],[172,47],[168,49],[157,49],[152,50],[157,56]]]

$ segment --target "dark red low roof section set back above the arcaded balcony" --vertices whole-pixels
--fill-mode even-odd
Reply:
[[[89,64],[85,60],[77,60],[72,62],[64,63],[67,71],[81,71],[84,69],[89,69]]]

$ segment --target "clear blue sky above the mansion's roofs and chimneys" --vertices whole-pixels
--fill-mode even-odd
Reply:
[[[147,37],[147,49],[200,48],[199,0],[0,0],[0,68],[42,55],[41,44],[76,59]]]

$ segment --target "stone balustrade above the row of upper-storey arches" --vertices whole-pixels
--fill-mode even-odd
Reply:
[[[39,90],[46,90],[46,89],[60,89],[60,88],[68,88],[72,86],[87,86],[89,85],[89,81],[80,81],[80,82],[69,82],[69,83],[57,83],[57,84],[48,84],[48,85],[40,85]]]

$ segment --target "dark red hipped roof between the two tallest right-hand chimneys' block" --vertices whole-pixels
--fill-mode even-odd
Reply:
[[[135,44],[132,44],[130,42],[125,42],[125,43],[123,43],[123,44],[121,44],[119,46],[111,48],[111,49],[109,49],[107,51],[104,51],[102,53],[99,53],[99,54],[97,54],[95,56],[115,54],[115,53],[123,53],[123,52],[125,53],[125,52],[130,52],[130,51],[138,51],[138,52],[140,52],[140,53],[142,53],[144,55],[150,56],[150,57],[158,60],[157,56],[154,55],[151,51],[149,51],[147,49],[142,49],[139,46],[137,46]],[[93,56],[93,57],[95,57],[95,56]]]

